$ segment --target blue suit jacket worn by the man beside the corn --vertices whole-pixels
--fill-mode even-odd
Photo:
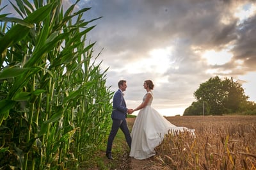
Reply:
[[[120,89],[115,92],[113,97],[113,111],[111,118],[116,120],[125,120],[125,118],[127,118],[127,108],[123,93]]]

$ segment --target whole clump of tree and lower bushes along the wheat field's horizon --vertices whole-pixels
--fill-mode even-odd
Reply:
[[[184,111],[184,116],[256,114],[255,102],[248,101],[242,85],[233,78],[221,80],[216,76],[200,84],[194,92],[196,102]]]

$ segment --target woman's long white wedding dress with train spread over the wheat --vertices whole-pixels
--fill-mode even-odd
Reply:
[[[171,130],[170,132],[189,130],[194,134],[193,129],[176,127],[152,108],[153,94],[151,91],[148,93],[150,93],[152,97],[147,106],[138,113],[131,132],[132,144],[130,157],[136,159],[145,159],[156,155],[154,148],[163,141],[164,134],[167,134],[169,130]],[[143,97],[143,101],[148,93]]]

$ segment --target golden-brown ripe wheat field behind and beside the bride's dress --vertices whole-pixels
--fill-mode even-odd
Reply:
[[[128,118],[132,127],[135,118]],[[128,169],[256,169],[256,116],[173,116],[176,126],[195,129],[166,135],[156,156],[131,158]]]

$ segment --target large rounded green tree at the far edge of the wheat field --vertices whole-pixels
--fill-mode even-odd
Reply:
[[[184,113],[195,115],[196,105],[202,105],[202,102],[207,103],[205,107],[207,114],[220,115],[244,111],[244,105],[248,100],[248,96],[244,95],[241,84],[234,82],[233,79],[227,79],[227,77],[221,81],[218,76],[200,84],[194,96],[198,104],[193,103]]]

